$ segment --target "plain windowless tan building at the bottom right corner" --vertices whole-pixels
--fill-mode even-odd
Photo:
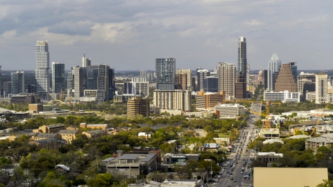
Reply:
[[[327,168],[254,168],[255,187],[316,187],[328,179]]]

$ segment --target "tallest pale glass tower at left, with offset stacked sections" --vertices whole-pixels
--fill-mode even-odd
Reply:
[[[49,69],[50,69],[50,54],[49,54],[49,45],[47,41],[37,41],[35,46],[36,53],[36,70],[35,78],[37,81],[37,92],[38,93],[47,93],[50,91],[50,78],[49,78]]]

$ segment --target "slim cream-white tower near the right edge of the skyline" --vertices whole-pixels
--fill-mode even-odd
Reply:
[[[327,74],[316,74],[316,103],[327,103]]]

